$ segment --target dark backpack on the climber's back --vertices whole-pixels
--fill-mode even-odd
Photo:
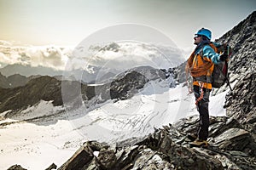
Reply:
[[[231,54],[233,53],[232,48],[226,43],[223,44],[217,44],[217,43],[210,43],[210,46],[212,47],[216,53],[218,54],[227,54],[228,59],[224,60],[223,62],[219,63],[218,65],[214,64],[214,68],[212,71],[212,88],[220,88],[224,85],[225,82],[228,83],[230,86],[229,81],[229,75],[228,75],[228,61],[231,57]],[[232,90],[232,88],[230,87]]]

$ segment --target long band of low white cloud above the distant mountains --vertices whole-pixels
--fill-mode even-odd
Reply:
[[[49,46],[14,46],[0,42],[0,63],[4,65],[44,66],[55,70],[84,69],[127,70],[136,66],[170,68],[184,61],[177,47],[141,42],[107,42],[90,48]]]

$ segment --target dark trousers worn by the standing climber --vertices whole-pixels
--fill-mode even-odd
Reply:
[[[199,139],[207,140],[208,138],[208,128],[209,128],[209,96],[210,96],[210,89],[203,88],[204,95],[203,98],[198,102],[197,111],[200,115],[200,122],[197,131],[197,135]],[[201,89],[199,86],[194,86],[194,94],[195,100],[198,99],[201,95]]]

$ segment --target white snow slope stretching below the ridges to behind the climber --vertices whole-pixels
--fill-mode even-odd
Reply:
[[[147,135],[154,131],[154,127],[195,115],[195,99],[193,94],[187,95],[187,91],[182,84],[168,88],[166,81],[148,82],[131,99],[108,100],[88,113],[81,109],[73,111],[76,116],[63,112],[62,107],[41,101],[12,120],[0,121],[0,169],[20,164],[27,169],[40,170],[53,162],[60,167],[86,140],[113,144],[118,140]],[[211,97],[212,116],[225,115],[222,108],[225,94]],[[35,119],[35,115],[40,118]],[[47,123],[47,117],[54,115],[58,121]],[[17,122],[29,118],[34,119],[32,122]],[[3,124],[7,122],[8,125]]]

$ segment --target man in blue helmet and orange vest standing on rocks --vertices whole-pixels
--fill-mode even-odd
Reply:
[[[226,54],[216,53],[217,49],[211,43],[212,32],[201,28],[195,33],[195,50],[190,55],[186,71],[193,77],[193,87],[189,88],[195,94],[195,105],[200,114],[200,124],[195,134],[190,134],[189,138],[194,141],[191,145],[208,145],[208,127],[209,127],[209,96],[212,90],[212,71],[214,64],[218,64],[227,59]],[[192,89],[193,88],[193,89]]]

